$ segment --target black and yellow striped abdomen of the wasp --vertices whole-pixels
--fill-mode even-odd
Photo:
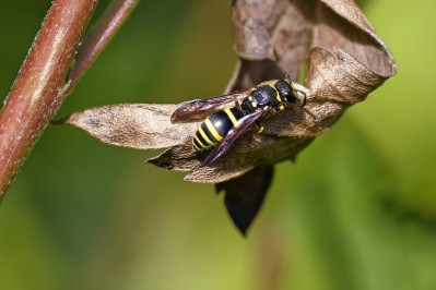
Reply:
[[[199,126],[192,144],[197,150],[215,146],[227,135],[244,113],[236,107],[212,113]]]

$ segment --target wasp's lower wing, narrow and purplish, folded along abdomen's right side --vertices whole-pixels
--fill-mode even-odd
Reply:
[[[205,167],[209,164],[216,160],[221,155],[228,150],[232,144],[247,131],[250,125],[252,125],[259,118],[263,117],[268,111],[259,110],[254,113],[244,116],[238,122],[235,124],[234,128],[228,131],[227,135],[213,148],[211,154],[204,159],[204,161],[200,165],[200,167]]]

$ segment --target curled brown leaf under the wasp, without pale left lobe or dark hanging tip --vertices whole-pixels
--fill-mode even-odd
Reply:
[[[284,72],[297,80],[307,60],[307,88],[295,84],[307,94],[307,105],[262,121],[264,134],[246,134],[205,168],[197,167],[204,155],[185,155],[193,166],[186,177],[190,181],[223,182],[260,164],[295,158],[346,108],[396,73],[389,49],[352,0],[237,0],[233,21],[240,59],[226,93],[281,78]],[[178,147],[169,148],[150,161],[186,170],[177,152]]]

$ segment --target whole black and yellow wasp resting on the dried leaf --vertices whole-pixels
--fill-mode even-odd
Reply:
[[[263,82],[248,90],[189,101],[172,114],[172,122],[203,120],[192,137],[192,147],[196,152],[213,147],[200,165],[205,167],[227,152],[255,123],[261,133],[263,126],[259,120],[281,113],[288,105],[296,104],[298,93],[304,96],[303,108],[306,94],[294,88],[286,73],[283,80]]]

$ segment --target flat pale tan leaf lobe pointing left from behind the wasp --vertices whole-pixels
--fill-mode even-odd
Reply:
[[[191,141],[198,124],[173,124],[177,105],[123,104],[75,112],[54,123],[72,124],[99,141],[134,149],[158,149]]]

